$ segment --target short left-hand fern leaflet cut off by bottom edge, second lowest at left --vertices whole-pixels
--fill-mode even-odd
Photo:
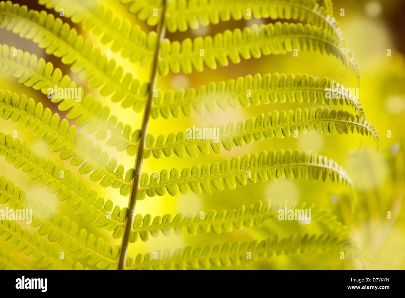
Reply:
[[[82,270],[83,265],[73,263],[70,257],[60,259],[59,251],[55,244],[47,242],[44,237],[22,229],[16,221],[0,221],[0,238],[15,244],[14,250],[31,256],[38,268],[49,270]]]

